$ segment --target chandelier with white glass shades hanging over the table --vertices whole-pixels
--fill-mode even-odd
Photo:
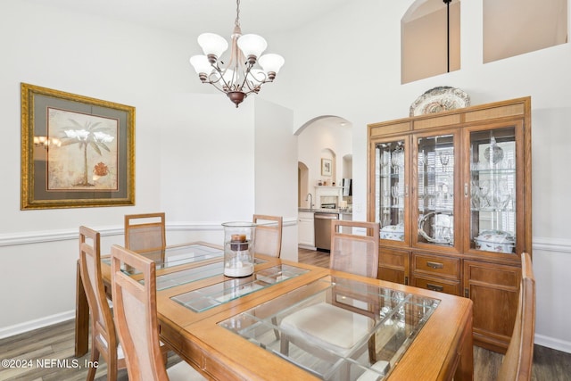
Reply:
[[[279,54],[260,56],[268,46],[266,40],[258,35],[242,35],[240,0],[236,0],[236,21],[231,37],[232,47],[226,67],[220,67],[224,62],[219,59],[228,49],[228,42],[214,33],[198,36],[198,45],[203,48],[204,55],[192,56],[190,63],[203,83],[210,83],[228,95],[237,108],[247,95],[258,94],[261,85],[276,79],[277,71],[284,64],[284,58]],[[255,67],[256,63],[261,69]]]

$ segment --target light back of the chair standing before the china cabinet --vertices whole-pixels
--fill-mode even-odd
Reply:
[[[356,228],[365,229],[366,235],[357,234]],[[378,238],[376,222],[333,219],[329,267],[364,277],[377,277]]]

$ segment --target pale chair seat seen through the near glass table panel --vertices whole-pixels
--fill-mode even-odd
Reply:
[[[287,316],[280,328],[285,335],[310,336],[316,346],[345,355],[362,341],[373,327],[367,316],[320,302]]]

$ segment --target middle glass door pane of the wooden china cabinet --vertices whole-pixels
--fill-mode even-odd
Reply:
[[[418,243],[454,245],[454,135],[417,140]]]

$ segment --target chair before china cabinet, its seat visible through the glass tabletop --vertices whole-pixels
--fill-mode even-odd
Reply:
[[[357,234],[353,228],[364,229],[366,236]],[[364,277],[377,277],[378,238],[377,223],[332,220],[329,267]],[[375,325],[372,302],[362,301],[368,307],[358,311],[359,309],[343,308],[343,303],[336,302],[335,295],[331,299],[330,303],[319,302],[282,319],[280,352],[287,355],[289,344],[294,343],[323,360],[335,361],[336,355],[346,355],[369,334]],[[327,324],[323,324],[324,319],[327,319]],[[337,334],[329,335],[329,327],[335,327]],[[314,341],[317,339],[319,346],[308,344],[308,337]],[[371,335],[368,346],[360,352],[367,349],[370,363],[376,368],[385,369],[388,365],[386,361],[377,363],[375,335]],[[348,369],[344,371],[347,372]]]

